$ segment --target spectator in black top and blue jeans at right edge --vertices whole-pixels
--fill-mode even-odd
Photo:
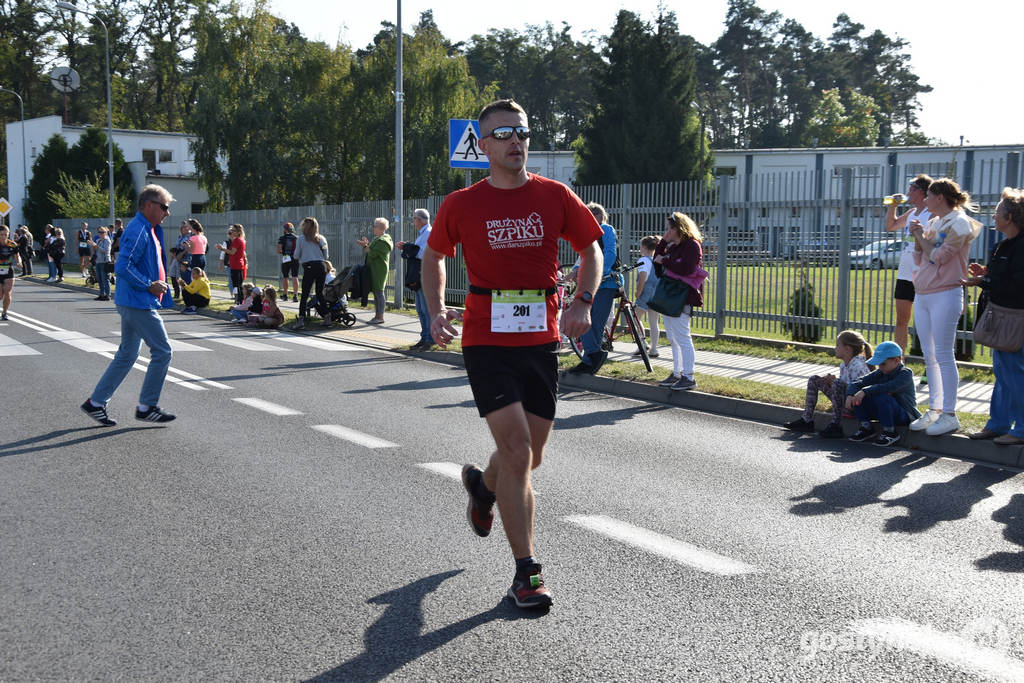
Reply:
[[[972,263],[965,285],[988,293],[989,304],[1024,310],[1024,189],[1002,190],[992,216],[1006,240],[992,248],[988,265]],[[971,438],[992,438],[1000,445],[1024,444],[1024,347],[1016,351],[992,349],[995,386],[985,428]]]

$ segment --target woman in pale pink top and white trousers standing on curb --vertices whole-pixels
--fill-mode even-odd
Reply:
[[[953,347],[956,322],[964,311],[961,280],[967,278],[971,243],[981,231],[981,223],[965,212],[978,210],[970,202],[971,197],[953,180],[939,178],[928,186],[925,197],[925,207],[932,214],[928,226],[920,221],[910,224],[913,260],[919,266],[913,275],[914,327],[929,378],[929,410],[910,423],[910,429],[930,436],[959,429],[959,374]]]

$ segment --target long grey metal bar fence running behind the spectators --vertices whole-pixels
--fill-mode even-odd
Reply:
[[[935,168],[931,168],[935,166]],[[660,236],[667,215],[673,211],[689,214],[703,233],[705,267],[710,275],[705,285],[705,305],[695,311],[695,332],[721,336],[733,334],[770,339],[788,339],[794,326],[818,332],[820,341],[830,344],[847,328],[859,330],[877,343],[891,338],[895,310],[892,291],[896,280],[900,233],[885,230],[884,195],[904,191],[918,173],[948,175],[969,190],[980,205],[975,217],[984,229],[972,248],[972,259],[984,261],[999,236],[992,226],[992,211],[1004,186],[1022,184],[1021,165],[1013,158],[963,165],[947,164],[863,166],[835,171],[809,171],[720,176],[710,183],[659,182],[643,184],[579,186],[584,201],[602,204],[618,234],[624,262],[639,257],[640,240]],[[895,188],[895,189],[894,189]],[[411,222],[413,210],[426,208],[436,213],[442,197],[408,200],[402,207],[402,225],[392,226],[397,243],[415,239]],[[314,216],[330,246],[335,266],[360,263],[362,250],[355,240],[372,234],[373,219],[393,216],[391,201],[354,202],[340,206],[288,207],[265,211],[230,211],[195,216],[206,228],[211,242],[222,239],[227,226],[242,223],[246,229],[250,276],[274,281],[280,276],[275,253],[282,225],[298,225],[305,216]],[[177,225],[178,218],[168,224]],[[68,219],[67,229],[75,229],[80,219]],[[98,219],[90,224],[105,222]],[[54,224],[57,224],[56,221]],[[881,243],[882,256],[858,262],[851,252]],[[885,250],[895,252],[895,258]],[[212,252],[211,248],[211,252]],[[562,263],[574,259],[562,243]],[[395,287],[401,259],[392,255],[387,291],[398,303]],[[468,288],[461,251],[447,259],[450,303],[464,300]],[[859,267],[864,266],[864,267]],[[214,270],[214,267],[210,267]],[[631,273],[632,275],[632,273]],[[813,288],[818,316],[794,310],[791,298],[802,284]],[[630,283],[632,287],[632,282]],[[967,292],[969,310],[977,292]],[[800,313],[800,314],[798,314]],[[970,317],[970,315],[969,315]],[[967,326],[970,328],[970,326]],[[806,330],[805,330],[806,331]],[[959,334],[970,340],[971,333]],[[975,359],[988,360],[975,349]]]

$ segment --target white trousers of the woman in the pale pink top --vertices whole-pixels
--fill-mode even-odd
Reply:
[[[921,339],[928,371],[928,407],[943,413],[956,412],[959,373],[953,346],[956,322],[964,310],[964,292],[959,287],[913,298],[913,327]]]

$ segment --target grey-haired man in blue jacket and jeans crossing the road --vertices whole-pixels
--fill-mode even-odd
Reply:
[[[170,213],[171,194],[160,185],[146,185],[138,195],[138,213],[121,236],[121,254],[115,272],[118,288],[114,303],[121,315],[121,346],[82,411],[103,425],[117,424],[106,415],[106,401],[121,386],[138,358],[142,341],[150,347],[135,419],[170,422],[173,415],[160,410],[160,391],[171,365],[171,344],[158,309],[172,308],[174,300],[167,286],[164,262],[164,231],[160,226]]]

